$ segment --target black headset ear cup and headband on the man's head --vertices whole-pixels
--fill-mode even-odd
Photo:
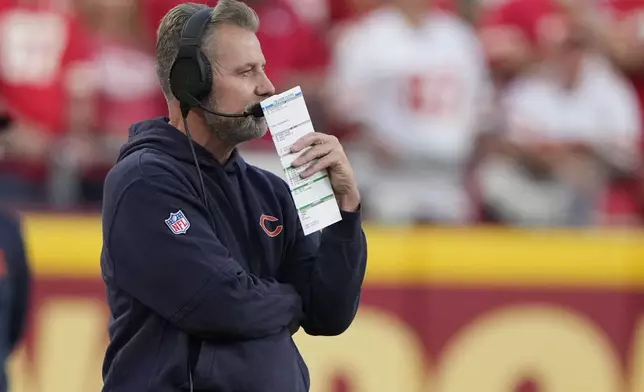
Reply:
[[[170,89],[182,108],[201,106],[212,89],[212,66],[201,50],[201,39],[208,28],[212,8],[195,12],[181,31],[179,52],[170,68]]]

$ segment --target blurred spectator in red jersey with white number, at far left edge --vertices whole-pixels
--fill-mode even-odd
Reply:
[[[37,0],[0,6],[0,93],[15,118],[2,138],[0,199],[42,201],[52,153],[91,159],[86,37],[77,19]]]

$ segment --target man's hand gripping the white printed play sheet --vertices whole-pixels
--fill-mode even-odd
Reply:
[[[291,152],[297,153],[310,147],[293,161],[294,167],[301,167],[315,162],[301,173],[307,178],[320,170],[328,169],[331,186],[336,194],[340,209],[356,211],[360,205],[360,192],[356,183],[353,168],[347,159],[338,138],[324,133],[313,132],[296,141]]]

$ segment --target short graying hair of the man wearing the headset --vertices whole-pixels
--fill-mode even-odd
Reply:
[[[161,19],[157,30],[157,77],[161,90],[168,101],[175,97],[170,89],[170,69],[179,53],[181,31],[188,19],[198,11],[208,8],[205,4],[182,3],[168,11]],[[210,47],[216,38],[215,28],[222,24],[232,24],[250,30],[254,33],[259,29],[259,17],[248,5],[237,0],[219,0],[212,10],[210,23],[202,37],[202,45]],[[211,63],[214,62],[212,53],[206,53]]]

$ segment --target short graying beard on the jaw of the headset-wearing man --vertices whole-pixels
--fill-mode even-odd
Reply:
[[[214,98],[208,99],[208,108],[213,111],[219,111],[217,102]],[[264,117],[223,117],[204,111],[208,128],[215,134],[217,139],[226,143],[230,147],[238,144],[259,139],[266,134],[268,125]]]

